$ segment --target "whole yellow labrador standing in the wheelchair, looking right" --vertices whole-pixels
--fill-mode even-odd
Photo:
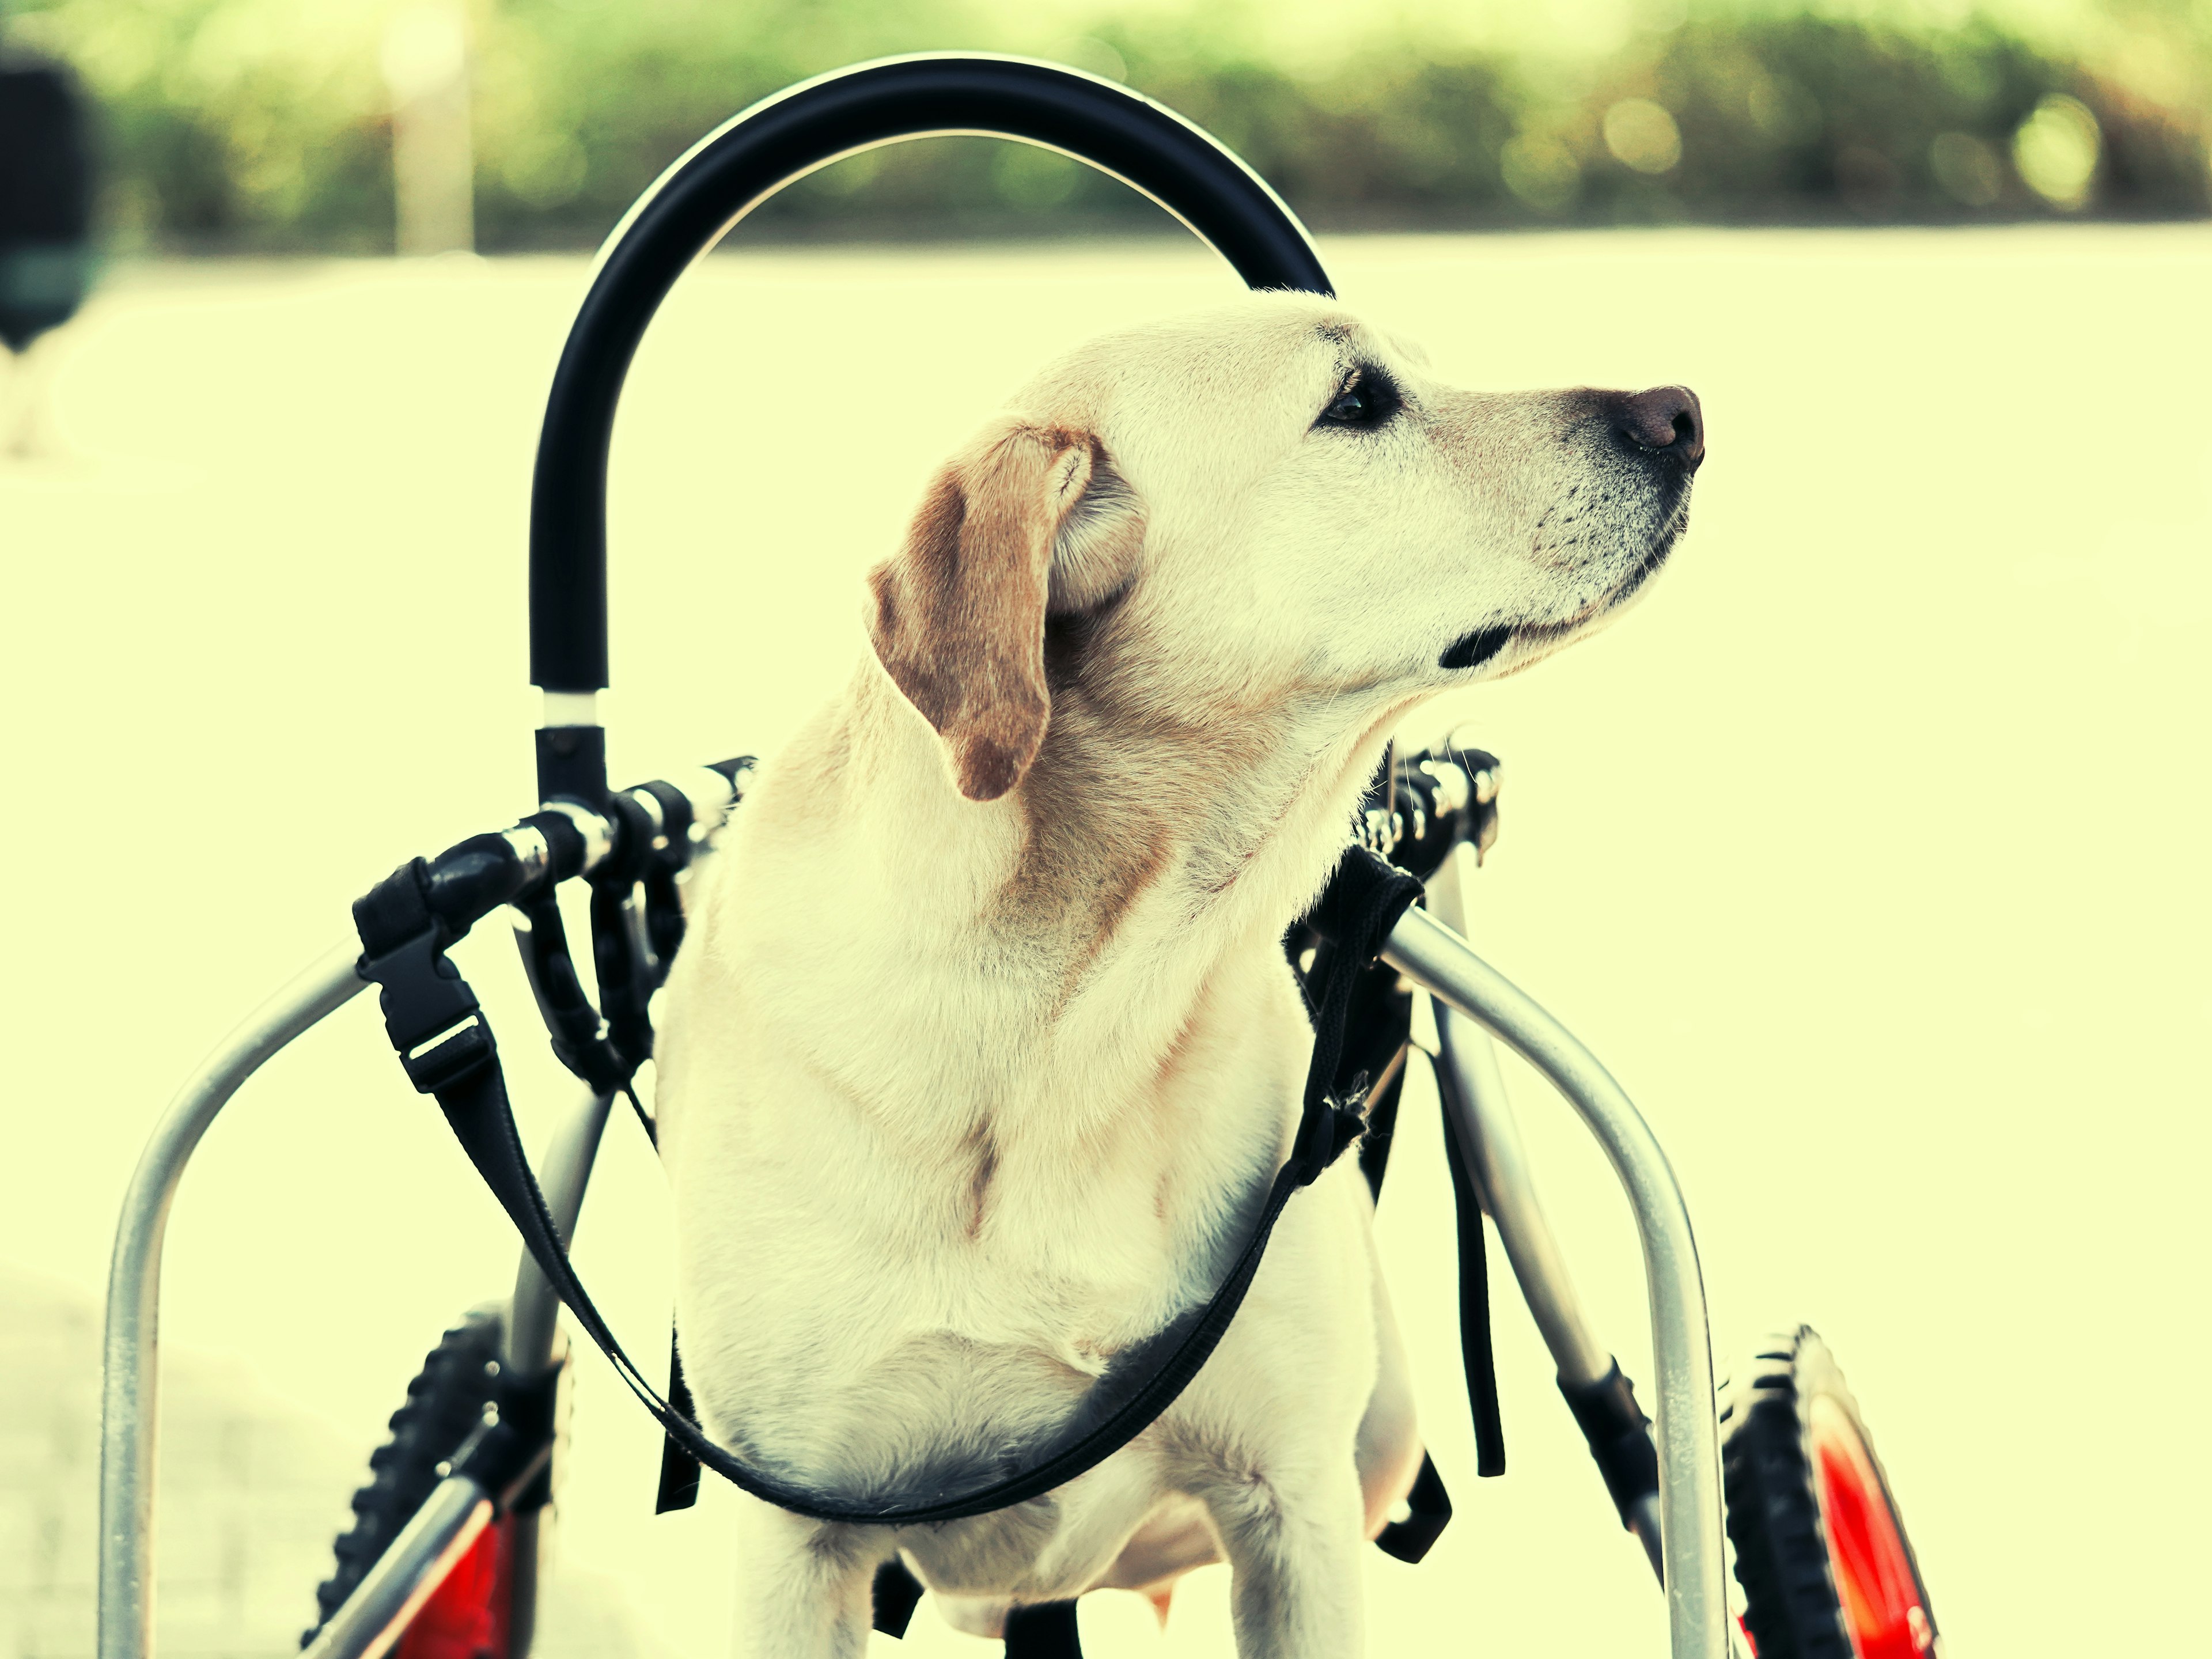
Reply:
[[[1334,301],[1099,338],[938,473],[867,650],[701,876],[661,1155],[703,1427],[832,1493],[1035,1462],[1203,1303],[1290,1150],[1283,931],[1420,699],[1590,633],[1679,538],[1697,398],[1429,378]],[[1360,1650],[1420,1460],[1354,1159],[1292,1199],[1197,1383],[1011,1511],[836,1526],[745,1500],[737,1652],[867,1644],[878,1564],[945,1615],[1228,1559],[1248,1659]]]

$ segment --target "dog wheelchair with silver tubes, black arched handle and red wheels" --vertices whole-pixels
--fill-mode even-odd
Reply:
[[[124,1199],[108,1283],[102,1383],[100,1655],[153,1652],[153,1438],[159,1261],[184,1168],[230,1095],[279,1048],[376,982],[387,1033],[431,1093],[526,1241],[513,1294],[447,1332],[394,1438],[354,1498],[338,1571],[321,1586],[312,1659],[522,1659],[535,1613],[538,1524],[560,1442],[562,1310],[608,1354],[668,1429],[661,1509],[690,1502],[699,1464],[801,1513],[825,1513],[734,1464],[690,1425],[679,1367],[666,1402],[566,1267],[593,1159],[617,1099],[646,1133],[630,1086],[650,1057],[653,993],[684,933],[681,887],[741,807],[748,759],[611,790],[597,692],[606,672],[606,456],[630,356],[692,259],[783,184],[843,155],[920,135],[984,133],[1075,155],[1150,195],[1252,288],[1329,292],[1292,212],[1232,153],[1110,82],[1009,58],[907,58],[825,75],[739,115],[681,157],[611,237],[549,396],[531,495],[531,679],[542,810],[418,858],[356,907],[356,933],[252,1013],[157,1126]],[[1761,1345],[1717,1405],[1697,1245],[1666,1155],[1606,1068],[1460,938],[1462,883],[1498,830],[1500,765],[1460,741],[1383,759],[1360,845],[1285,949],[1316,1013],[1305,1130],[1281,1199],[1349,1144],[1380,1188],[1411,1062],[1413,998],[1433,1006],[1438,1095],[1460,1201],[1462,1352],[1482,1473],[1502,1469],[1484,1301],[1484,1217],[1557,1365],[1621,1524],[1668,1599],[1674,1659],[1723,1659],[1736,1639],[1725,1573],[1743,1586],[1743,1637],[1763,1659],[1913,1659],[1940,1652],[1911,1546],[1827,1349],[1809,1329]],[[593,989],[571,953],[557,894],[588,889]],[[524,969],[582,1106],[529,1168],[495,1044],[445,949],[513,907]],[[1621,1179],[1644,1245],[1655,1422],[1582,1312],[1531,1179],[1493,1040],[1575,1108]],[[1318,1106],[1316,1106],[1318,1099]],[[1214,1303],[1144,1387],[1040,1469],[920,1511],[858,1517],[920,1524],[1048,1491],[1110,1455],[1203,1365],[1234,1316],[1265,1225]],[[1146,1416],[1150,1409],[1150,1416]],[[1725,1471],[1723,1471],[1725,1422]],[[1119,1425],[1119,1427],[1117,1427]],[[1106,1444],[1110,1436],[1119,1440]],[[1079,1455],[1077,1455],[1079,1453]],[[1088,1458],[1088,1462],[1082,1462]],[[726,1467],[728,1464],[728,1467]],[[1725,1522],[1723,1522],[1725,1489]],[[814,1509],[807,1504],[816,1502]],[[1449,1500],[1431,1464],[1378,1540],[1402,1559],[1433,1542]],[[876,1579],[876,1626],[902,1632],[920,1586],[896,1564]],[[1011,1655],[1075,1652],[1073,1604],[1020,1610]]]

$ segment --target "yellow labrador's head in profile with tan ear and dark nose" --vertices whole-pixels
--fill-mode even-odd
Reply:
[[[1701,458],[1681,387],[1462,392],[1334,301],[1254,294],[1037,376],[929,487],[869,630],[973,801],[1044,741],[1048,635],[1152,726],[1349,730],[1617,615]]]

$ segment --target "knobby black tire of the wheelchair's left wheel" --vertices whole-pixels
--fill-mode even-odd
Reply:
[[[500,1310],[478,1307],[422,1358],[422,1369],[407,1385],[407,1405],[392,1413],[392,1438],[369,1453],[369,1484],[354,1493],[354,1524],[334,1546],[336,1571],[314,1586],[314,1630],[299,1646],[314,1641],[330,1615],[345,1606],[442,1478],[438,1464],[482,1418],[498,1387],[502,1325]]]

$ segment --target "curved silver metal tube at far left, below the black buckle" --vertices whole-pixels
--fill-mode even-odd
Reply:
[[[100,1374],[100,1659],[153,1652],[153,1486],[159,1409],[161,1239],[199,1137],[263,1062],[367,982],[347,940],[246,1015],[177,1091],[139,1155],[115,1225]]]

